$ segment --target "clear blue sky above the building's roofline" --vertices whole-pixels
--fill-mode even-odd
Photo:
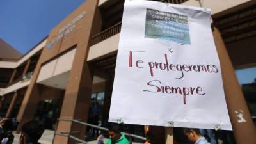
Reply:
[[[0,38],[22,54],[85,0],[0,0]]]

